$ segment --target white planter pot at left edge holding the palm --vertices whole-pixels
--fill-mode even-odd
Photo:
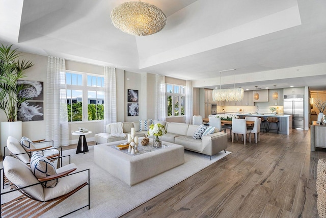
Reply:
[[[8,136],[13,136],[20,141],[22,136],[22,122],[1,122],[0,126],[0,147],[1,154],[4,155],[4,148],[7,146]]]

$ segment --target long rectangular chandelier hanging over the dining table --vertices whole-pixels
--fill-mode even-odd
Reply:
[[[225,71],[230,71],[235,69],[228,69],[220,71],[220,89],[214,89],[212,91],[212,97],[214,102],[232,102],[232,101],[242,101],[243,99],[243,88],[234,88],[235,83],[233,84],[233,88],[222,89],[221,88],[221,73]]]

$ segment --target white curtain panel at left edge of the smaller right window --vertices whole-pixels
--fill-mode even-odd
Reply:
[[[156,74],[155,76],[155,119],[164,120],[165,113],[165,76]]]

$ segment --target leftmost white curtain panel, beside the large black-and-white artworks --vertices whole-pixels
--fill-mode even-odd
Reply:
[[[65,59],[48,57],[46,78],[46,140],[69,146]]]

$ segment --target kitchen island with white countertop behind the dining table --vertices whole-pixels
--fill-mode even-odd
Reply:
[[[264,114],[264,113],[236,113],[239,117],[245,117],[245,116],[259,116],[262,117],[264,121],[264,125],[267,126],[267,117],[277,117],[279,120],[279,128],[280,128],[280,134],[289,135],[292,130],[292,115],[290,114]],[[260,125],[260,131],[263,130],[264,127],[263,124]],[[269,126],[269,132],[275,132],[277,133],[276,125],[270,125]]]

